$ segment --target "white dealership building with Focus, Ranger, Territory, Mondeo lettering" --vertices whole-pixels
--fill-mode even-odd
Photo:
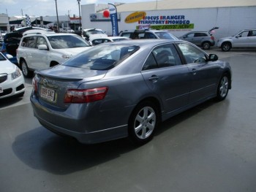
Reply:
[[[212,32],[218,39],[256,28],[255,0],[162,0],[115,6],[118,31],[154,28],[179,37],[188,31],[208,31],[217,26],[219,29]],[[83,28],[101,28],[112,35],[108,4],[81,5],[81,18]]]

